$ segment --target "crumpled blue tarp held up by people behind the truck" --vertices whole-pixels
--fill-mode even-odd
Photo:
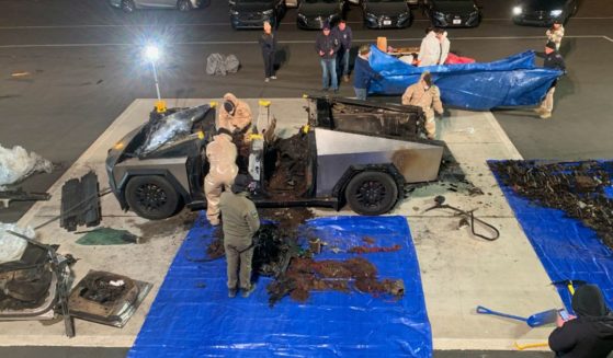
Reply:
[[[373,81],[368,92],[400,95],[430,71],[446,106],[489,111],[536,105],[563,72],[536,67],[534,58],[530,50],[488,63],[415,67],[371,46],[371,66],[383,80]]]

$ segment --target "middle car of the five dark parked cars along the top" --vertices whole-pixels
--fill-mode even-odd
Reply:
[[[407,27],[413,18],[406,0],[363,0],[362,14],[368,28]]]

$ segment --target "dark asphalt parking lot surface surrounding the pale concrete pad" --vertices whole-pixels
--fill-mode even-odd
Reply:
[[[477,28],[450,30],[452,49],[488,61],[542,48],[544,28],[509,21],[512,2],[480,3],[484,22]],[[149,67],[138,61],[138,46],[148,38],[168,39],[169,55],[160,66],[166,97],[216,97],[227,91],[246,97],[297,97],[320,86],[320,69],[311,50],[316,33],[296,30],[295,10],[288,11],[279,30],[280,79],[264,84],[257,32],[231,31],[224,1],[207,1],[204,9],[190,13],[139,11],[132,15],[99,0],[7,0],[2,7],[0,145],[21,145],[58,164],[54,173],[22,183],[29,190],[48,189],[135,99],[155,96]],[[349,21],[356,44],[387,36],[391,45],[415,46],[428,21],[419,11],[413,13],[413,25],[400,31],[361,28],[355,7]],[[613,60],[613,2],[581,0],[566,34],[561,51],[569,72],[556,93],[554,118],[538,120],[525,111],[496,111],[493,116],[526,159],[610,158],[613,72],[608,63]],[[205,76],[204,58],[214,51],[236,54],[241,71],[225,78]],[[13,77],[16,72],[30,74]],[[351,88],[342,84],[341,94],[352,95]],[[0,221],[16,221],[30,207],[14,203],[9,209],[0,208]],[[0,355],[18,350],[29,348],[0,348]],[[61,348],[54,351],[61,355]],[[81,356],[71,351],[66,354]]]

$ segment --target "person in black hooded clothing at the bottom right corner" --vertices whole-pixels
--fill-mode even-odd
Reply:
[[[549,335],[549,348],[556,357],[605,358],[613,351],[613,314],[594,285],[583,285],[572,296],[577,317],[566,322],[558,317],[558,327]]]

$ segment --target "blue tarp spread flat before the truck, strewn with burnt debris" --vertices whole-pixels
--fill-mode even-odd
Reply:
[[[202,261],[213,239],[201,215],[172,263],[128,357],[431,357],[432,337],[419,265],[402,217],[319,218],[300,228],[328,245],[317,259],[344,259],[341,251],[399,244],[400,251],[364,255],[379,279],[401,278],[405,297],[313,292],[306,303],[288,297],[269,308],[259,278],[248,299],[227,297],[226,263]]]

